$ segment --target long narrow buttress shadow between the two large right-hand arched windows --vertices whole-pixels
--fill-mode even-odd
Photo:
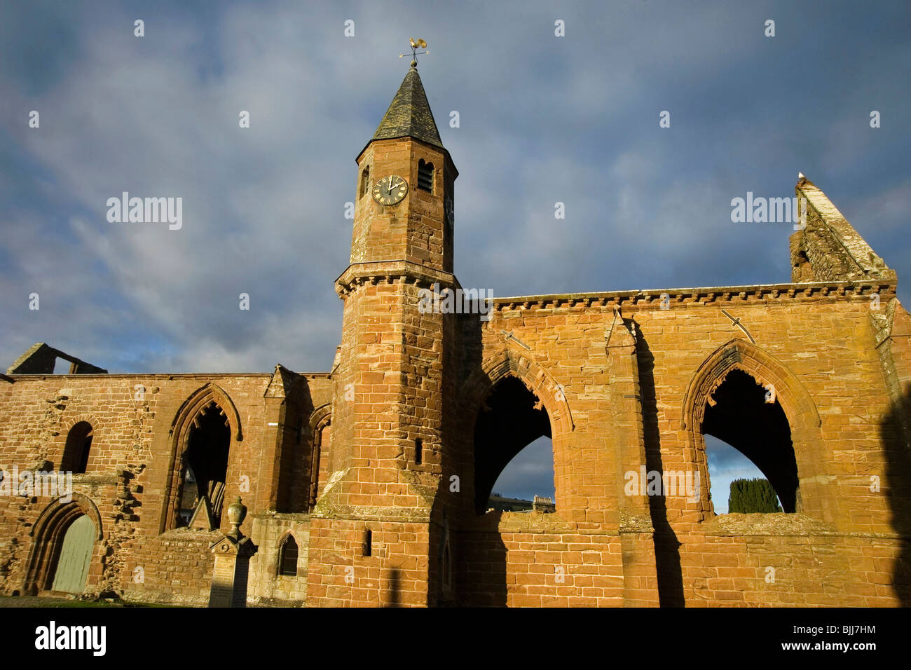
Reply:
[[[637,328],[641,333],[641,329]],[[658,430],[658,405],[655,400],[655,356],[649,344],[640,336],[636,339],[639,359],[639,386],[642,398],[642,432],[645,439],[645,467],[664,476],[661,463],[661,438]],[[655,529],[655,569],[658,572],[658,600],[661,607],[683,607],[683,574],[681,572],[681,542],[668,522],[664,496],[649,496],[651,525]]]

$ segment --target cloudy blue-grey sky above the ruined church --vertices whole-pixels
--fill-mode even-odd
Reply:
[[[112,373],[328,370],[354,160],[409,37],[460,173],[463,286],[786,283],[792,226],[733,223],[731,201],[793,196],[798,171],[911,275],[909,19],[904,1],[4,0],[0,361],[46,342]],[[182,198],[182,226],[108,222],[123,191]]]

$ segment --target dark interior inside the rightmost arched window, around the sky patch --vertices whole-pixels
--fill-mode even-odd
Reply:
[[[724,377],[722,384],[711,395],[702,420],[703,435],[718,438],[739,451],[759,471],[758,477],[768,479],[782,509],[797,509],[797,460],[791,441],[791,427],[784,414],[774,388],[763,387],[752,376],[734,369]],[[718,442],[706,440],[706,447],[717,448]],[[707,453],[710,459],[712,455]],[[717,463],[720,456],[715,457]],[[752,479],[754,476],[748,476]],[[710,491],[714,486],[711,481]],[[741,478],[738,478],[741,479]],[[730,487],[730,480],[728,481]],[[722,500],[727,499],[719,491]],[[714,497],[712,500],[716,500]],[[716,507],[726,507],[716,502]]]

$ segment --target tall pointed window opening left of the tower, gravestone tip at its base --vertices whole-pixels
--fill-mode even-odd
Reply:
[[[210,402],[193,421],[183,454],[182,483],[179,493],[179,526],[186,526],[204,498],[209,503],[212,521],[221,523],[225,481],[228,476],[230,425],[221,408]]]

